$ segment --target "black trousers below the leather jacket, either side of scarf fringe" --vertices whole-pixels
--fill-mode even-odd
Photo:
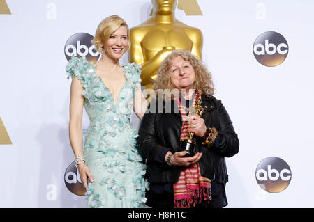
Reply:
[[[174,208],[173,193],[163,192],[155,193],[152,190],[146,192],[146,205],[152,208]],[[225,189],[220,192],[213,192],[209,203],[200,203],[193,208],[222,208],[227,205],[225,198]],[[192,207],[191,207],[192,208]]]

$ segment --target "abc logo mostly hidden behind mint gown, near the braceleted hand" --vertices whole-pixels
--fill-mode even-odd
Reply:
[[[64,173],[64,182],[66,183],[66,187],[72,193],[80,196],[85,195],[85,188],[82,184],[80,173],[75,166],[75,161],[73,161],[68,168],[66,168],[66,173]]]

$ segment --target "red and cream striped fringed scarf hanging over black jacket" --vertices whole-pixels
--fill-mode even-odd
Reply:
[[[193,105],[200,97],[200,94],[196,91]],[[175,97],[177,105],[179,107],[183,122],[181,127],[181,139],[188,138],[188,122],[186,119],[186,111],[179,100],[179,97]],[[173,184],[174,189],[174,208],[190,208],[191,205],[195,207],[197,203],[201,203],[202,200],[209,201],[211,198],[211,180],[200,175],[199,164],[194,164],[189,168],[181,171],[179,180]]]

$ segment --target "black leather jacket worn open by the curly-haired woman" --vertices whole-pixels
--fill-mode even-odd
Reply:
[[[149,113],[145,113],[140,123],[137,148],[147,163],[147,179],[151,183],[174,183],[179,180],[180,167],[167,166],[165,163],[156,161],[158,149],[168,148],[170,151],[179,151],[181,134],[181,114],[174,101],[164,102],[158,110],[157,100],[152,100],[149,105]],[[154,109],[154,107],[156,109]],[[202,176],[211,179],[212,182],[226,183],[227,167],[225,157],[232,157],[239,152],[239,140],[234,132],[230,117],[220,100],[215,97],[202,95],[202,104],[205,125],[216,127],[218,136],[216,143],[210,148],[205,147],[198,141],[196,152],[202,152],[199,161]],[[171,107],[171,112],[165,113],[165,107]],[[160,113],[163,111],[163,113]],[[155,112],[155,113],[154,113]]]

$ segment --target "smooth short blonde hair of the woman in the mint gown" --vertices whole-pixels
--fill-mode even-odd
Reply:
[[[128,34],[128,49],[130,49],[130,30],[128,29],[128,24],[124,19],[121,19],[118,15],[111,15],[103,19],[97,27],[94,40],[91,43],[95,45],[98,52],[102,53],[103,45],[109,40],[110,35],[117,31],[120,26],[126,27],[126,32]]]

